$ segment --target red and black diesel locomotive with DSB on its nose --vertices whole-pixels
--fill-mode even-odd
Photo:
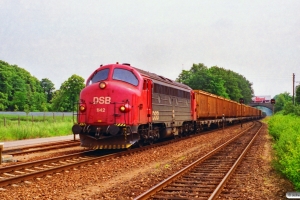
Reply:
[[[203,107],[200,104],[208,102],[203,99],[197,102],[200,98],[195,98],[195,93],[201,92],[130,64],[101,65],[80,93],[77,123],[72,131],[79,134],[83,147],[121,149],[188,135],[221,123],[222,114],[221,117],[198,114]],[[258,117],[254,115],[258,113],[234,114],[226,116],[226,120]]]

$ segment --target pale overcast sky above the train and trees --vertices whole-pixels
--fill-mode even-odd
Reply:
[[[299,0],[0,0],[0,60],[55,88],[100,64],[175,80],[193,63],[230,69],[255,95],[300,84]]]

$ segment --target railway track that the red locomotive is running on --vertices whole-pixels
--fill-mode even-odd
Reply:
[[[45,175],[53,173],[62,172],[64,170],[76,169],[85,165],[99,164],[104,160],[106,161],[121,156],[128,156],[136,152],[144,151],[169,143],[176,143],[197,136],[199,135],[191,135],[189,137],[165,141],[149,146],[144,146],[142,148],[130,149],[128,151],[121,151],[117,153],[116,150],[102,150],[100,151],[100,154],[95,154],[94,150],[90,150],[76,154],[69,154],[50,159],[2,167],[0,168],[0,187],[16,184],[37,177],[43,177]]]

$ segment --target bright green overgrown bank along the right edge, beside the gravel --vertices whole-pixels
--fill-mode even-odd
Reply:
[[[267,123],[274,138],[274,166],[300,191],[300,117],[276,114]]]

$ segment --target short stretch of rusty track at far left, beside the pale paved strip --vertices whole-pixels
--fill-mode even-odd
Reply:
[[[36,153],[36,152],[42,152],[42,151],[49,151],[54,149],[62,149],[62,148],[69,148],[69,147],[75,147],[80,146],[80,141],[78,140],[69,140],[69,141],[60,141],[60,142],[49,142],[44,144],[38,144],[38,145],[30,145],[30,146],[24,146],[24,147],[18,147],[18,148],[10,148],[10,149],[4,149],[2,153],[4,155],[22,155],[27,153]]]

